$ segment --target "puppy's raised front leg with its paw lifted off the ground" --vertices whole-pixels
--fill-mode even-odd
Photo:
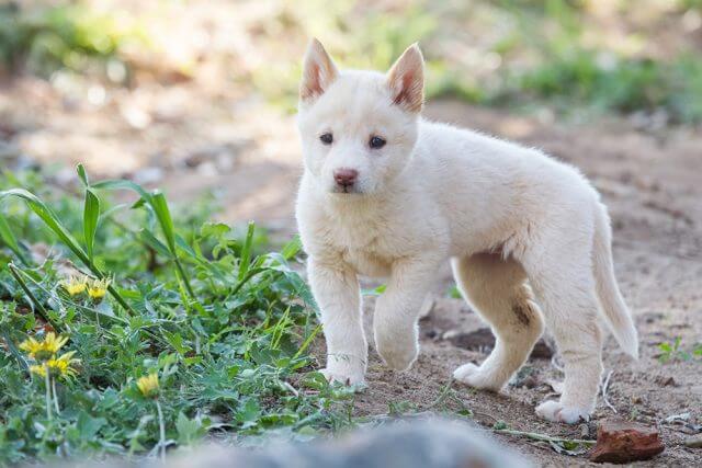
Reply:
[[[433,258],[396,262],[387,288],[377,299],[373,318],[375,346],[394,369],[405,370],[417,358],[417,320],[438,265]]]

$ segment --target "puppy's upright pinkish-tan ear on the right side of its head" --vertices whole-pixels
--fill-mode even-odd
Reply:
[[[424,103],[424,58],[417,43],[403,53],[387,72],[393,102],[418,113]]]

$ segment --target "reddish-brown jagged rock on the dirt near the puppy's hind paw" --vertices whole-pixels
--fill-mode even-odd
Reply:
[[[647,460],[665,449],[655,427],[622,420],[605,420],[597,430],[590,461],[624,464]]]

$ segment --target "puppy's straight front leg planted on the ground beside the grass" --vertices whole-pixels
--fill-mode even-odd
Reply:
[[[367,344],[355,272],[339,261],[310,256],[307,274],[327,341],[327,367],[321,372],[329,380],[360,384],[365,376]]]

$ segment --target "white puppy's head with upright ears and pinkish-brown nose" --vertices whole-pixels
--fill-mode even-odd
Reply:
[[[340,72],[322,45],[310,42],[297,124],[305,167],[320,190],[373,194],[403,171],[417,140],[423,68],[415,44],[385,75]]]

